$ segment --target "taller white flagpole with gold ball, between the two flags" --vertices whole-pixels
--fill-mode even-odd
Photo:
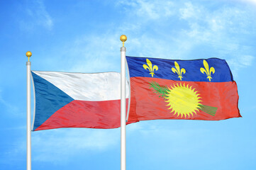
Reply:
[[[121,35],[121,170],[126,170],[126,35]]]

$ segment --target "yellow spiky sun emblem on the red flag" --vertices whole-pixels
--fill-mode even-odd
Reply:
[[[167,90],[167,97],[165,97],[167,99],[165,102],[169,106],[168,109],[172,109],[171,112],[174,111],[174,115],[181,115],[181,118],[183,115],[185,118],[187,115],[190,116],[190,114],[193,116],[196,114],[196,111],[199,111],[201,106],[201,100],[199,100],[201,97],[199,97],[200,94],[197,92],[189,84],[187,86],[185,84],[174,84],[174,86],[171,86],[171,89]]]

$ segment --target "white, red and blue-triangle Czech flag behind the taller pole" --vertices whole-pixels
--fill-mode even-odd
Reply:
[[[33,131],[120,127],[120,73],[32,71],[31,74],[35,90]],[[126,103],[128,106],[128,98]]]

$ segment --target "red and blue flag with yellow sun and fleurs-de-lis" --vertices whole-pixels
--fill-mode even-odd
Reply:
[[[225,60],[126,60],[130,74],[128,121],[241,117],[238,88]]]

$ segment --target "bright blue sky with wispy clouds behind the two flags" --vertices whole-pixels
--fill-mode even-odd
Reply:
[[[256,169],[256,1],[0,1],[0,169],[26,169],[26,51],[33,70],[120,72],[135,57],[225,59],[243,118],[127,126],[127,169]],[[33,169],[120,169],[120,128],[32,133]]]

